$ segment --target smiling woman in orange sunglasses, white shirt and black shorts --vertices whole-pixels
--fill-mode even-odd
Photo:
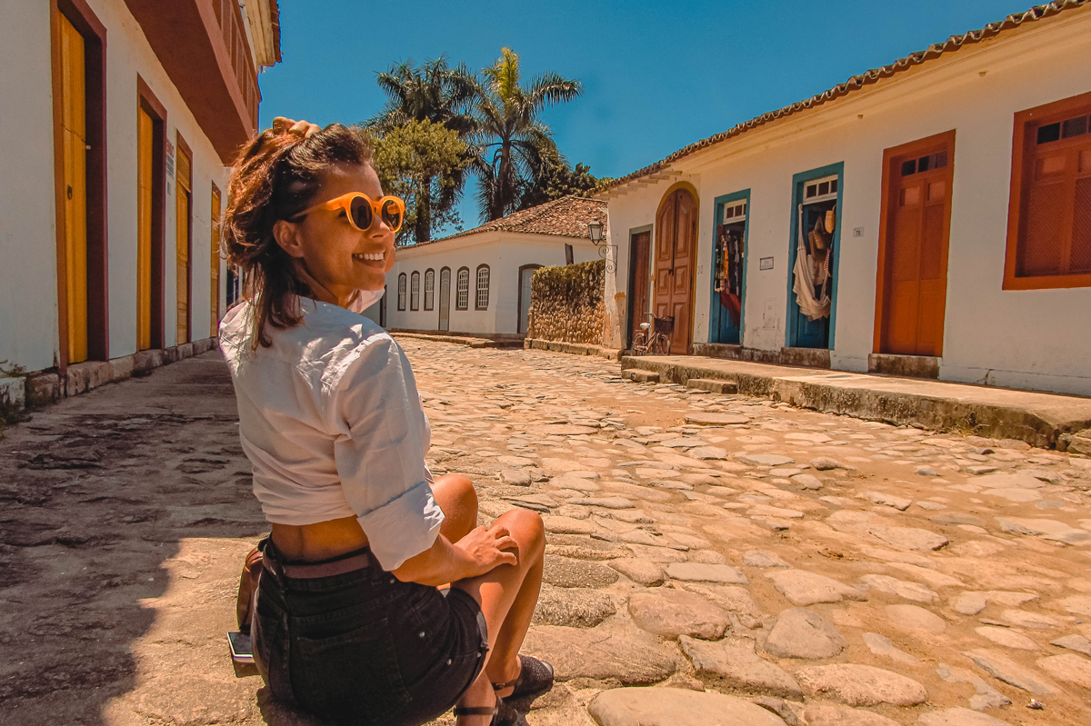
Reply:
[[[513,704],[553,683],[518,654],[541,518],[477,527],[469,480],[432,481],[409,361],[360,315],[382,297],[404,211],[340,124],[277,119],[231,172],[223,239],[247,300],[220,348],[273,525],[254,657],[274,697],[338,722],[419,726],[456,705],[459,726],[526,724]]]

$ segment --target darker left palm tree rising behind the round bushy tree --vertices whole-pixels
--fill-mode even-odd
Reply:
[[[471,114],[478,95],[477,78],[464,63],[455,68],[446,58],[424,61],[415,66],[412,59],[391,65],[388,71],[376,74],[379,87],[387,96],[386,106],[376,116],[364,122],[364,126],[377,134],[407,125],[410,121],[442,123],[460,136],[471,133],[476,120]],[[466,184],[466,167],[452,169],[447,183],[440,185],[440,194],[433,198],[432,178],[421,181],[416,194],[417,215],[413,237],[417,242],[431,238],[433,215],[449,210],[461,196]]]

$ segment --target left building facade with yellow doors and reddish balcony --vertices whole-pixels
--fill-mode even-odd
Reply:
[[[207,347],[276,0],[41,0],[4,20],[0,361],[56,372],[56,397],[74,367]]]

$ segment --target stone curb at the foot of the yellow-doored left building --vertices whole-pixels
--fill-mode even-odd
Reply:
[[[64,376],[56,370],[37,371],[21,383],[24,386],[23,406],[45,406],[62,398],[79,396],[88,390],[131,378],[147,375],[153,370],[206,353],[216,348],[216,338],[205,338],[159,350],[142,350],[131,355],[113,358],[109,361],[85,361],[68,366]]]

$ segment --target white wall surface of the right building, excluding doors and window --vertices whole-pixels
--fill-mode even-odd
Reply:
[[[900,73],[816,110],[681,160],[680,174],[609,198],[628,293],[628,231],[655,222],[668,189],[699,194],[694,341],[709,339],[714,201],[751,190],[743,344],[786,344],[792,176],[843,162],[836,368],[873,350],[883,152],[956,130],[940,377],[1091,394],[1091,289],[1003,290],[1016,112],[1091,90],[1091,9],[1031,25]],[[1050,69],[1047,73],[1043,69]],[[853,229],[862,228],[862,237]],[[760,257],[774,269],[758,269]],[[624,320],[618,318],[621,338]]]

